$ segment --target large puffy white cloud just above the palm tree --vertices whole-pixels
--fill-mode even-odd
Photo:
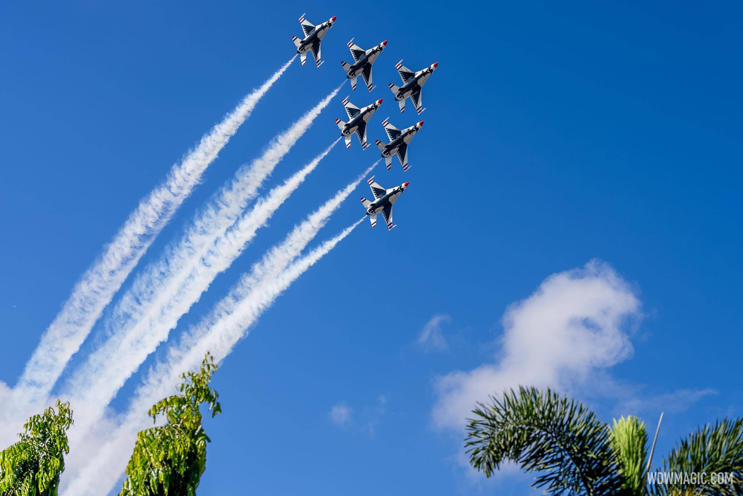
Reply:
[[[640,316],[635,290],[605,262],[551,275],[507,308],[496,362],[436,380],[434,425],[462,428],[476,402],[518,385],[569,390],[632,356],[626,324]]]

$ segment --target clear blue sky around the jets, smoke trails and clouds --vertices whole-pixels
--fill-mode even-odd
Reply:
[[[363,48],[389,39],[374,65],[377,88],[351,94],[346,84],[267,186],[332,143],[346,94],[359,106],[384,99],[371,140],[383,139],[388,115],[400,128],[415,123],[385,85],[399,82],[400,59],[413,70],[440,65],[424,88],[412,169],[395,159],[392,171],[374,171],[386,187],[410,181],[395,206],[398,227],[357,227],[215,376],[224,414],[207,422],[201,493],[525,494],[528,477],[509,471],[484,483],[461,466],[461,431],[432,420],[437,384],[498,363],[509,305],[592,259],[613,267],[640,309],[620,322],[632,353],[588,379],[563,378],[571,392],[607,421],[638,414],[654,425],[666,410],[661,454],[698,424],[740,415],[741,7],[733,2],[423,2],[402,12],[397,2],[3,4],[1,381],[16,383],[138,200],[291,58],[305,11],[315,23],[338,16],[322,43],[327,63],[296,62],[276,82],[143,263],[343,82],[351,37]],[[357,141],[331,151],[172,335],[377,156]],[[354,197],[369,191],[357,192],[317,241],[363,215]],[[448,316],[446,346],[420,345],[436,315]],[[102,339],[94,330],[65,374]],[[137,377],[114,408],[126,407]]]

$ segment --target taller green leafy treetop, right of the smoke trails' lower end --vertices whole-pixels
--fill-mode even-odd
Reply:
[[[161,399],[147,412],[153,422],[162,414],[168,423],[137,435],[120,496],[195,495],[210,442],[201,426],[199,405],[208,404],[212,417],[221,413],[219,395],[209,387],[216,370],[207,353],[200,371],[181,374],[181,394]]]

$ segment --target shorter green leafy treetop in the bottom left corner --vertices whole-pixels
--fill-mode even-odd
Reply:
[[[70,403],[56,400],[56,410],[30,417],[18,443],[0,452],[1,496],[56,496],[59,474],[70,452],[67,430],[72,425]]]

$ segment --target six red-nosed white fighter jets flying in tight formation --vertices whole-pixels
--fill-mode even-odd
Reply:
[[[325,34],[328,33],[328,30],[333,26],[335,19],[335,17],[331,17],[331,19],[315,26],[305,19],[305,14],[302,14],[302,17],[299,18],[299,24],[302,25],[302,31],[305,33],[305,38],[299,39],[296,36],[292,36],[291,39],[294,42],[294,45],[296,45],[296,53],[299,53],[299,59],[301,60],[302,65],[305,65],[308,51],[312,53],[317,67],[322,65],[324,61],[320,56],[320,42],[325,37]],[[364,50],[354,43],[353,38],[351,38],[351,41],[348,42],[347,45],[348,49],[351,50],[351,57],[354,59],[354,62],[350,64],[343,60],[340,62],[340,65],[343,67],[343,71],[345,71],[345,78],[350,79],[351,81],[351,90],[356,91],[357,79],[361,76],[366,84],[366,88],[369,91],[372,91],[376,87],[371,79],[371,66],[374,65],[374,62],[377,61],[377,58],[386,48],[387,40],[384,40],[379,45],[369,48],[369,50]],[[411,71],[403,65],[402,60],[395,64],[395,69],[397,69],[398,74],[400,74],[403,83],[401,86],[398,86],[391,82],[388,86],[392,91],[392,94],[395,95],[395,101],[398,102],[401,114],[405,112],[405,100],[407,98],[412,101],[415,106],[415,111],[417,111],[418,114],[421,114],[421,112],[426,110],[423,106],[421,91],[423,86],[426,84],[426,81],[428,81],[436,68],[438,68],[438,62],[421,69],[421,71]],[[382,105],[381,98],[363,108],[358,108],[356,105],[349,102],[348,97],[343,99],[343,108],[345,108],[345,113],[348,114],[348,122],[336,119],[335,123],[340,129],[340,135],[345,139],[345,148],[351,148],[351,135],[355,133],[359,138],[361,148],[366,150],[369,146],[369,143],[367,143],[366,140],[367,124],[374,115],[374,112],[377,111],[377,108],[380,108],[380,105]],[[389,122],[389,117],[383,121],[382,125],[387,137],[389,138],[389,143],[383,143],[380,140],[375,140],[375,143],[382,153],[387,170],[392,169],[393,155],[398,156],[400,165],[403,166],[403,172],[407,172],[408,169],[410,169],[408,163],[408,146],[415,134],[417,134],[423,127],[423,123],[424,121],[421,120],[420,122],[411,125],[409,128],[398,129],[395,125],[392,125],[392,123]],[[371,195],[374,196],[374,201],[362,197],[361,203],[363,203],[363,206],[366,209],[366,215],[369,216],[371,227],[377,226],[377,215],[381,213],[385,223],[387,224],[387,229],[391,230],[397,226],[397,224],[392,223],[392,205],[398,200],[410,183],[406,182],[399,186],[395,186],[392,189],[385,189],[380,186],[379,183],[374,181],[374,176],[372,176],[368,182],[369,187],[371,188]]]

